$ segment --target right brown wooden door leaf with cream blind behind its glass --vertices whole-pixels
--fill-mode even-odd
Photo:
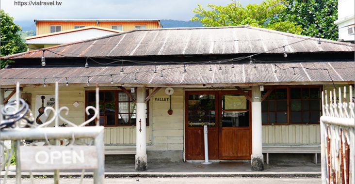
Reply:
[[[251,102],[238,91],[219,92],[219,159],[250,159]]]

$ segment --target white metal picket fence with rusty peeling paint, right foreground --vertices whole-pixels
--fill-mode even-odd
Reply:
[[[322,92],[322,183],[355,184],[355,108],[352,86]]]

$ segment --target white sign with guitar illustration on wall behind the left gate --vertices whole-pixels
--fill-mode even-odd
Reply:
[[[34,115],[37,124],[42,124],[47,121],[48,116],[45,115],[44,109],[46,107],[53,107],[54,100],[54,95],[36,95]]]

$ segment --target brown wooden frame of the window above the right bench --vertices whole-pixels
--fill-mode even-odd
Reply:
[[[309,112],[315,112],[315,111],[317,111],[317,110],[310,110],[310,107],[309,107],[309,109],[308,110],[303,110],[302,109],[302,101],[303,100],[305,100],[305,99],[302,99],[302,90],[301,90],[301,99],[291,99],[291,92],[290,92],[290,90],[292,89],[292,88],[300,88],[300,89],[303,89],[303,88],[306,88],[306,89],[311,89],[311,88],[319,88],[319,90],[320,90],[320,92],[322,92],[323,91],[323,85],[291,85],[291,86],[266,86],[266,87],[264,87],[264,89],[265,89],[265,93],[267,92],[267,90],[269,90],[269,89],[271,89],[271,88],[273,88],[274,87],[274,90],[276,90],[276,89],[286,89],[287,90],[287,99],[286,99],[286,101],[287,101],[287,123],[270,123],[270,121],[269,121],[269,116],[268,116],[268,122],[267,123],[262,123],[262,125],[291,125],[291,124],[303,124],[303,125],[305,125],[305,124],[319,124],[320,122],[318,121],[317,123],[315,123],[315,122],[308,122],[308,123],[304,123],[304,122],[300,122],[300,123],[291,123],[291,121],[290,121],[290,119],[291,119],[291,107],[290,107],[290,105],[291,105],[291,100],[301,100],[301,110],[300,110],[300,112],[303,112],[303,111],[309,111]],[[273,91],[274,92],[274,91]],[[309,93],[310,93],[310,91],[309,91]],[[322,102],[322,99],[321,99],[321,94],[319,94],[319,102],[321,103]],[[311,100],[310,98],[308,99],[308,100]],[[315,100],[315,99],[313,99],[313,100]],[[265,100],[263,100],[263,101],[280,101],[279,99],[273,99],[273,100],[268,100],[267,98],[265,99]],[[262,103],[262,102],[261,102]],[[276,107],[275,107],[276,108]],[[262,108],[261,108],[261,113],[263,113],[263,112],[267,112],[268,113],[268,115],[269,115],[269,112],[278,112],[276,109],[275,109],[275,111],[269,111],[269,107],[268,107],[268,109],[267,109],[267,111],[264,111],[264,110],[262,110]],[[283,111],[282,111],[283,112]],[[319,112],[320,112],[320,116],[322,116],[322,105],[320,105],[320,110],[319,110]],[[275,115],[276,116],[276,115]],[[302,119],[301,119],[302,120]]]

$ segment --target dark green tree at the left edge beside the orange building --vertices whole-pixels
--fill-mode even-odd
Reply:
[[[25,44],[20,37],[21,28],[14,23],[14,18],[1,10],[0,14],[0,56],[7,56],[26,51]],[[21,46],[23,45],[23,46]],[[1,60],[1,69],[6,66],[9,60]]]

